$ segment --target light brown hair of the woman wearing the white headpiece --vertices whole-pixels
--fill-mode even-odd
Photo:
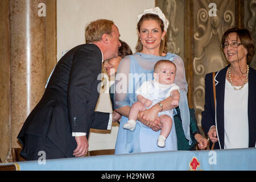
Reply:
[[[156,20],[156,22],[159,23],[162,32],[164,31],[164,23],[163,20],[159,18],[158,15],[156,14],[144,14],[141,19],[139,20],[138,24],[137,24],[137,30],[140,31],[141,30],[141,24],[144,20]],[[138,42],[137,42],[137,46],[136,46],[136,52],[141,52],[143,48],[143,45],[141,43],[141,40],[139,40],[138,38]],[[160,48],[159,48],[159,55],[161,56],[162,53],[167,53],[168,48],[167,48],[167,34],[164,36],[163,40],[160,43]]]

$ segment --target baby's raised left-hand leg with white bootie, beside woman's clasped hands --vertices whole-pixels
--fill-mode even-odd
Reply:
[[[129,120],[127,121],[127,123],[125,123],[123,125],[123,129],[133,131],[136,126],[136,121],[137,121],[139,112],[141,112],[145,109],[146,109],[146,107],[144,106],[144,104],[142,104],[142,102],[139,102],[139,101],[135,102],[130,108]]]

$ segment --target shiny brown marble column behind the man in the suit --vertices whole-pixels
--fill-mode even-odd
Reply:
[[[46,1],[10,0],[11,148],[46,85]]]

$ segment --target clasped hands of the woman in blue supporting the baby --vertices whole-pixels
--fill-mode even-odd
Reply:
[[[162,125],[158,118],[158,113],[160,111],[160,107],[158,105],[154,105],[149,109],[146,109],[139,113],[138,119],[144,125],[150,127],[154,131],[159,131],[162,129]]]

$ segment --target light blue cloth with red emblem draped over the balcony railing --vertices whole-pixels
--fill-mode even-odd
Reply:
[[[17,170],[166,171],[256,170],[256,148],[164,151],[38,160],[15,164]]]

